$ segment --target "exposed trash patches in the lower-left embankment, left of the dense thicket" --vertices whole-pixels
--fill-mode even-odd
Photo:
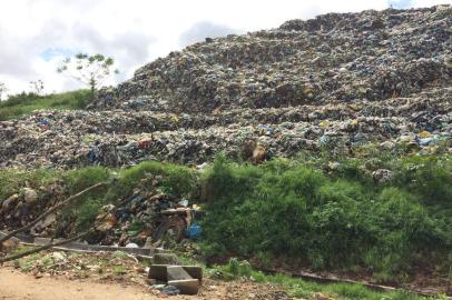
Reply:
[[[161,176],[148,174],[137,183],[131,194],[115,207],[106,204],[95,216],[96,232],[87,238],[89,243],[128,248],[170,247],[177,243],[185,250],[194,250],[199,238],[197,219],[202,214],[198,206],[184,197],[166,192],[161,188]],[[0,231],[20,228],[69,197],[61,182],[49,183],[39,190],[22,188],[1,202]],[[72,207],[68,211],[72,211]],[[35,224],[30,237],[62,238],[82,230],[73,213],[56,211]]]

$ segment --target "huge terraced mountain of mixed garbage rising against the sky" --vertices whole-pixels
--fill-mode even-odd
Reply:
[[[452,8],[328,13],[206,39],[104,89],[86,111],[0,123],[0,168],[259,163],[452,133]],[[448,151],[451,151],[450,148]]]

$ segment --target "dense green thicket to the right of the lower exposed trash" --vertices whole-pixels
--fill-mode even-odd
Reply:
[[[383,282],[406,280],[416,263],[446,271],[452,160],[416,158],[414,169],[405,168],[412,159],[394,160],[394,180],[375,184],[353,160],[326,176],[306,161],[256,167],[219,157],[202,179],[208,212],[202,249],[265,263],[362,269]]]

